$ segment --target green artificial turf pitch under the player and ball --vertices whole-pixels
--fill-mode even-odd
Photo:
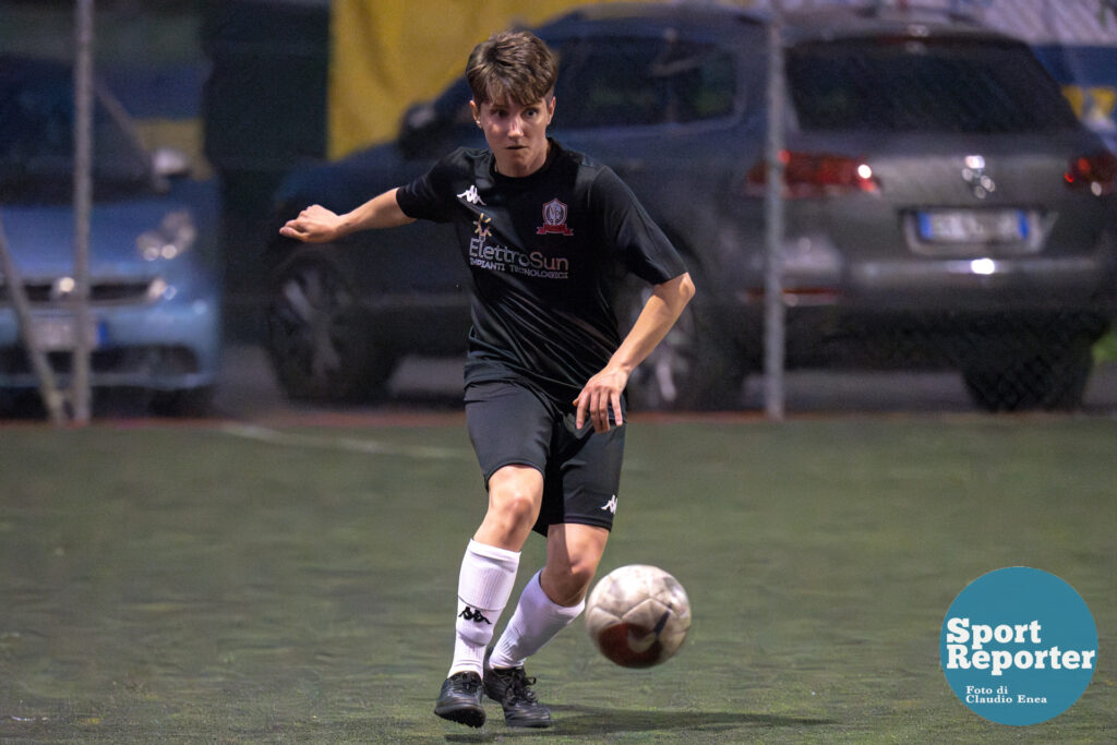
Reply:
[[[1109,419],[637,419],[601,570],[670,571],[690,637],[629,670],[577,621],[528,665],[555,718],[531,732],[431,714],[485,507],[460,422],[0,441],[0,742],[1117,741]],[[542,558],[533,536],[518,585]],[[1013,565],[1099,636],[1031,727],[970,711],[938,659],[957,593]]]

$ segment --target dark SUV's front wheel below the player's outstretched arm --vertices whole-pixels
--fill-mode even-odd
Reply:
[[[276,273],[267,343],[276,378],[293,399],[366,401],[383,393],[395,366],[345,277],[315,254],[297,255]]]

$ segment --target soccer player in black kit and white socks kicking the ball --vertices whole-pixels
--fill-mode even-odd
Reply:
[[[330,241],[417,219],[457,226],[474,280],[466,421],[488,510],[461,561],[435,714],[479,727],[484,690],[508,725],[547,727],[524,662],[585,605],[617,510],[624,385],[694,285],[618,176],[547,137],[556,63],[543,41],[498,34],[477,45],[466,76],[488,149],[457,150],[346,214],[309,207],[280,232]],[[623,340],[609,300],[618,265],[652,285]],[[486,659],[533,528],[546,536],[546,564]]]

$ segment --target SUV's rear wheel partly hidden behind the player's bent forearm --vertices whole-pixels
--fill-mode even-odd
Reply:
[[[622,295],[624,328],[636,322],[651,295],[649,288]],[[634,408],[660,411],[741,408],[744,366],[731,344],[716,342],[700,306],[688,306],[662,342],[629,378]]]

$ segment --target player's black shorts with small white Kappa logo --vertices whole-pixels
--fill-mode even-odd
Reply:
[[[505,466],[532,466],[543,474],[536,533],[546,535],[560,523],[612,529],[626,427],[599,434],[588,422],[577,430],[573,412],[563,413],[544,395],[505,381],[466,389],[466,424],[486,488]]]

